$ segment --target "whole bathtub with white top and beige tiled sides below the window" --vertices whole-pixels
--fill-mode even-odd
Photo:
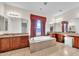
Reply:
[[[50,36],[32,37],[30,39],[30,51],[36,52],[56,45],[56,38]]]

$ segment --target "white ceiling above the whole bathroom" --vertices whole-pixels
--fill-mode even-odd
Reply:
[[[7,4],[17,6],[26,10],[38,11],[45,15],[56,15],[58,13],[66,12],[69,9],[75,8],[79,5],[78,2],[6,2]]]

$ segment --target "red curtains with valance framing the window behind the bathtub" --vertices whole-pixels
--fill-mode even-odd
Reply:
[[[36,36],[36,25],[35,24],[36,24],[37,20],[41,21],[41,36],[44,36],[45,35],[46,17],[31,14],[30,20],[31,20],[31,37]]]

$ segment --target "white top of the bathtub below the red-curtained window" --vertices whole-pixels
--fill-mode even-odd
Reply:
[[[42,42],[42,41],[53,40],[53,39],[55,38],[52,38],[50,36],[33,37],[31,38],[30,43]]]

